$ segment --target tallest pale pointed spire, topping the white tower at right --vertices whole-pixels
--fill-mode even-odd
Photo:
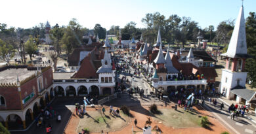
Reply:
[[[247,44],[245,33],[244,7],[240,8],[236,25],[230,39],[228,50],[221,54],[230,58],[247,57]]]

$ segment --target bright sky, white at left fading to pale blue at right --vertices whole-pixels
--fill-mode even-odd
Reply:
[[[141,19],[147,13],[160,12],[190,17],[200,27],[217,25],[238,16],[242,0],[0,0],[0,23],[8,27],[30,28],[46,23],[68,25],[76,18],[80,25],[93,29],[100,24],[121,28],[133,21],[136,27],[146,27]],[[256,0],[244,0],[245,18],[256,12]]]

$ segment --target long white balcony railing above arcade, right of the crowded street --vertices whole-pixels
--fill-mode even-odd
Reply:
[[[198,85],[207,84],[207,80],[177,80],[177,81],[159,81],[153,82],[153,85]]]

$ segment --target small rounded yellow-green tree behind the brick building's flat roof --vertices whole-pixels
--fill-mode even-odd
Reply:
[[[25,42],[25,52],[30,56],[30,60],[32,60],[32,54],[36,54],[37,50],[35,38],[30,36],[30,39]]]

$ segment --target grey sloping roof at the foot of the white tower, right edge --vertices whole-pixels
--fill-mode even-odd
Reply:
[[[255,91],[248,90],[242,86],[236,86],[235,88],[231,89],[230,92],[242,97],[246,101],[251,101],[251,99],[253,99],[253,97],[255,96],[255,93],[256,93]]]

